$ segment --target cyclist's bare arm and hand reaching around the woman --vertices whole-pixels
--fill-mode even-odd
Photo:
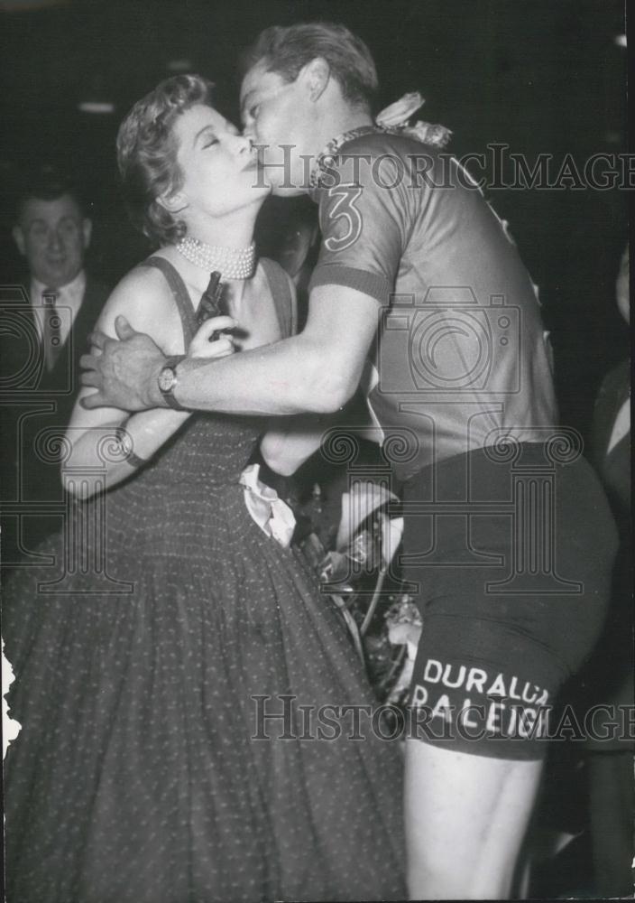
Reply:
[[[228,414],[336,411],[359,383],[379,310],[370,295],[320,285],[311,292],[307,325],[299,336],[213,363],[185,358],[177,368],[174,396],[191,410]],[[97,352],[82,358],[87,367],[82,381],[97,393],[85,397],[83,405],[164,407],[157,377],[165,358],[147,336],[132,330],[124,335],[123,341],[94,337]]]

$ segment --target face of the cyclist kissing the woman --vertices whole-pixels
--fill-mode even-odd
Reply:
[[[312,146],[315,114],[299,79],[285,81],[258,63],[243,79],[240,100],[244,135],[263,145],[265,181],[275,194],[306,191],[311,163],[322,148]]]

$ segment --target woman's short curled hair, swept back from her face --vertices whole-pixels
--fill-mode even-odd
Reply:
[[[161,245],[185,234],[185,224],[157,200],[182,184],[172,126],[190,107],[211,107],[213,88],[198,75],[165,79],[134,104],[119,127],[117,163],[126,206],[134,225]]]

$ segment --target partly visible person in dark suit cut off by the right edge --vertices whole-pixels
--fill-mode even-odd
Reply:
[[[617,304],[630,323],[629,248],[621,257]],[[583,675],[591,702],[605,707],[594,720],[600,737],[586,746],[594,891],[600,898],[632,893],[633,741],[612,730],[616,710],[632,712],[633,558],[630,491],[630,359],[604,377],[595,400],[592,460],[611,502],[620,548],[613,570],[612,600],[603,637]],[[617,714],[619,717],[619,714]]]

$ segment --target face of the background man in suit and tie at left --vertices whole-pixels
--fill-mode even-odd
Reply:
[[[84,265],[90,226],[68,194],[55,200],[32,198],[24,204],[14,239],[31,275],[47,287],[60,288]]]

